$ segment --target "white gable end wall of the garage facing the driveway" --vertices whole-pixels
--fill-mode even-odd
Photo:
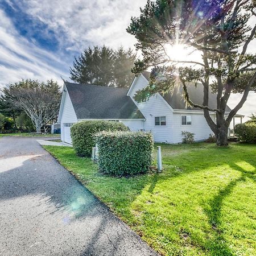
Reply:
[[[70,127],[64,127],[64,123],[76,123],[76,113],[71,103],[71,99],[68,95],[68,92],[63,92],[63,106],[61,110],[60,116],[60,124],[61,124],[61,141],[71,143],[71,136],[70,136]]]

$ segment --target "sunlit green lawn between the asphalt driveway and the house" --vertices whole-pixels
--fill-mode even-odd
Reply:
[[[164,171],[131,178],[44,148],[160,254],[256,255],[256,145],[161,146]]]

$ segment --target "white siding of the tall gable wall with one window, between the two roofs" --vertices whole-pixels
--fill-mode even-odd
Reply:
[[[137,90],[143,89],[147,85],[148,81],[142,75],[139,76],[129,93],[130,97],[133,98]],[[145,131],[152,131],[154,141],[172,143],[173,114],[171,107],[168,106],[163,98],[159,94],[156,94],[155,96],[151,96],[146,102],[134,102],[146,118],[146,121],[143,123],[143,129]],[[155,117],[159,116],[166,117],[166,126],[155,126]]]

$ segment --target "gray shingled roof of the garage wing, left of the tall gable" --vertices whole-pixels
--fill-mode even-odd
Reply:
[[[144,118],[127,89],[64,82],[78,119]]]

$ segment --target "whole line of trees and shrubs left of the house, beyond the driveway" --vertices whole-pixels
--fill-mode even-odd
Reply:
[[[21,80],[1,90],[0,132],[36,131],[56,121],[61,92],[57,82]]]

